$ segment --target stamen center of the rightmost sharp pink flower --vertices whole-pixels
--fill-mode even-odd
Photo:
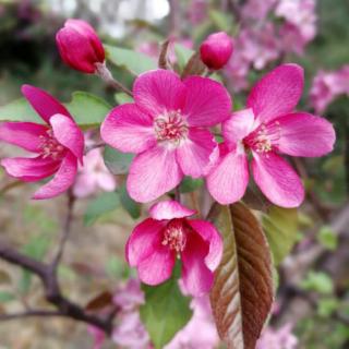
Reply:
[[[243,144],[256,153],[269,153],[273,151],[273,147],[278,144],[280,133],[281,129],[278,121],[269,123],[268,125],[262,123],[243,140]]]

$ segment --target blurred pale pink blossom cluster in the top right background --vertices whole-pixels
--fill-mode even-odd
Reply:
[[[226,75],[238,92],[249,87],[250,69],[262,70],[287,53],[301,56],[316,35],[316,0],[249,0],[241,11],[236,55]],[[278,19],[279,21],[273,21]]]

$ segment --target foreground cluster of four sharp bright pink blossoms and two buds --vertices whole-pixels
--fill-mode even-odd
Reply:
[[[57,34],[57,44],[71,68],[88,74],[107,71],[104,47],[87,23],[67,21]],[[233,45],[226,33],[210,35],[200,48],[207,73],[221,69],[237,51],[236,47],[232,55]],[[133,103],[119,105],[106,116],[100,137],[119,152],[135,154],[127,190],[136,202],[158,200],[190,176],[204,178],[218,203],[231,204],[243,197],[251,172],[272,203],[297,207],[304,189],[281,155],[317,157],[329,153],[335,142],[328,121],[296,111],[303,80],[301,67],[281,64],[255,84],[245,109],[232,111],[230,94],[213,79],[182,79],[165,69],[148,71],[134,81]],[[10,176],[26,182],[53,176],[33,197],[55,197],[74,184],[88,147],[62,104],[34,86],[24,85],[22,92],[45,124],[4,122],[0,140],[36,156],[4,158],[1,165]],[[97,185],[116,188],[100,165],[100,154],[91,154],[87,156],[95,156],[96,161],[92,169],[82,168],[75,184],[80,196]],[[94,176],[86,179],[91,172]],[[125,254],[143,282],[158,285],[169,279],[180,258],[188,292],[200,297],[209,291],[221,260],[222,239],[212,222],[191,217],[195,214],[178,201],[160,201],[151,207],[149,218],[134,228]]]

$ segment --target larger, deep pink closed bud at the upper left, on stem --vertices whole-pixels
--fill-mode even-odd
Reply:
[[[87,74],[96,63],[105,61],[105,50],[95,29],[85,21],[68,20],[56,35],[62,60],[71,68]]]

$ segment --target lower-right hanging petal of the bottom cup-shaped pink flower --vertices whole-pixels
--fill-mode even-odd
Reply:
[[[194,297],[208,292],[214,281],[214,274],[205,263],[207,253],[208,244],[198,234],[188,234],[186,245],[181,254],[182,279],[185,290]]]

